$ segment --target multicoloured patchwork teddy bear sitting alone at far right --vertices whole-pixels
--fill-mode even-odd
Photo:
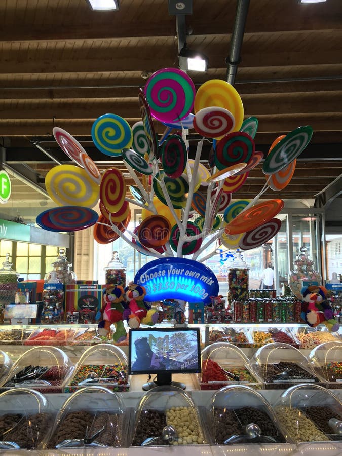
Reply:
[[[323,286],[311,285],[300,290],[303,296],[301,318],[312,327],[324,324],[329,331],[338,331],[339,323],[333,318],[329,291]]]

